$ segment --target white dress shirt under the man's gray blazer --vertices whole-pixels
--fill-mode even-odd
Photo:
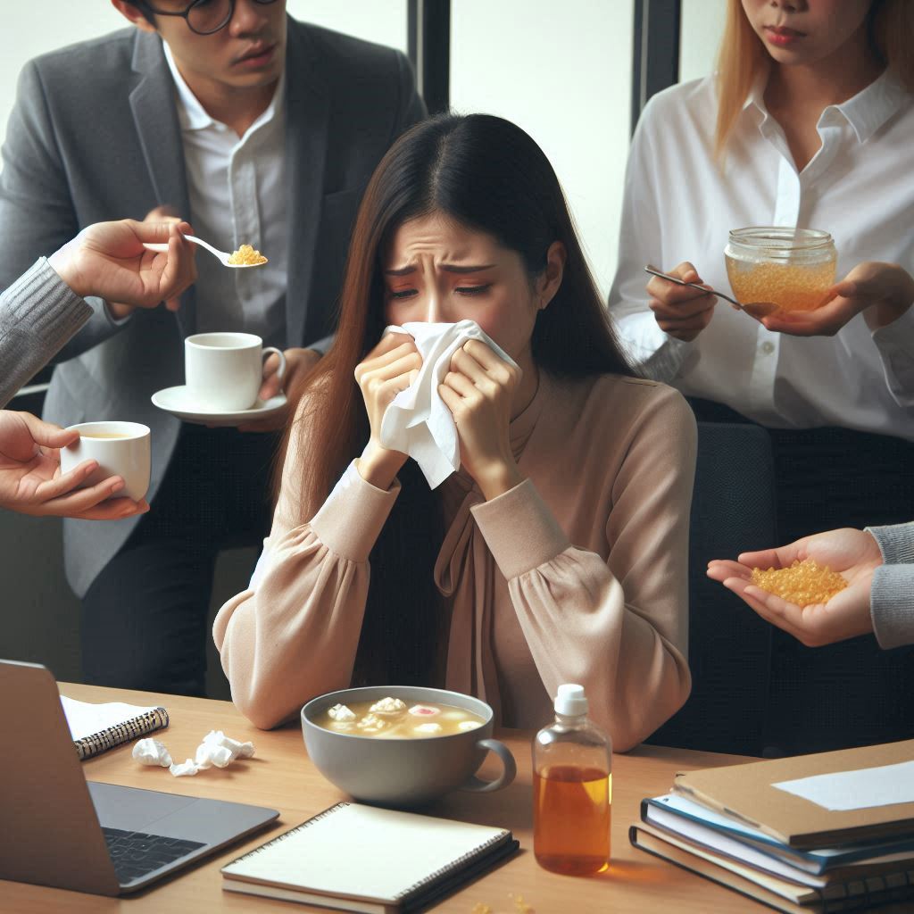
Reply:
[[[177,91],[190,213],[198,238],[220,250],[250,244],[269,259],[256,270],[227,270],[197,253],[197,332],[236,330],[286,345],[285,75],[267,110],[240,137],[211,118],[175,66],[165,59]]]

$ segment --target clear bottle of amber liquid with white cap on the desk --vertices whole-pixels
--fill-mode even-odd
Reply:
[[[555,709],[533,740],[533,850],[545,869],[590,876],[610,861],[612,743],[582,685],[559,685]]]

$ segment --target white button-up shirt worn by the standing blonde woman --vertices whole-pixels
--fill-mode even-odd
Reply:
[[[766,111],[764,80],[736,122],[721,172],[714,162],[712,78],[655,95],[632,140],[619,269],[610,309],[633,362],[688,396],[725,403],[773,428],[840,426],[914,441],[914,308],[872,333],[857,314],[834,336],[767,330],[718,300],[690,343],[666,335],[647,307],[647,263],[695,264],[730,286],[731,228],[822,228],[838,252],[837,278],[864,260],[914,273],[914,104],[883,74],[829,105],[822,146],[797,173],[780,124]]]

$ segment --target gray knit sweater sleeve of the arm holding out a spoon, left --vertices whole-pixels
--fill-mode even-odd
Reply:
[[[91,314],[43,257],[0,294],[0,409]]]

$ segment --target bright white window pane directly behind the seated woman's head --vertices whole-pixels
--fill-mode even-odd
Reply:
[[[632,0],[455,0],[451,101],[539,143],[609,292],[632,98]]]

